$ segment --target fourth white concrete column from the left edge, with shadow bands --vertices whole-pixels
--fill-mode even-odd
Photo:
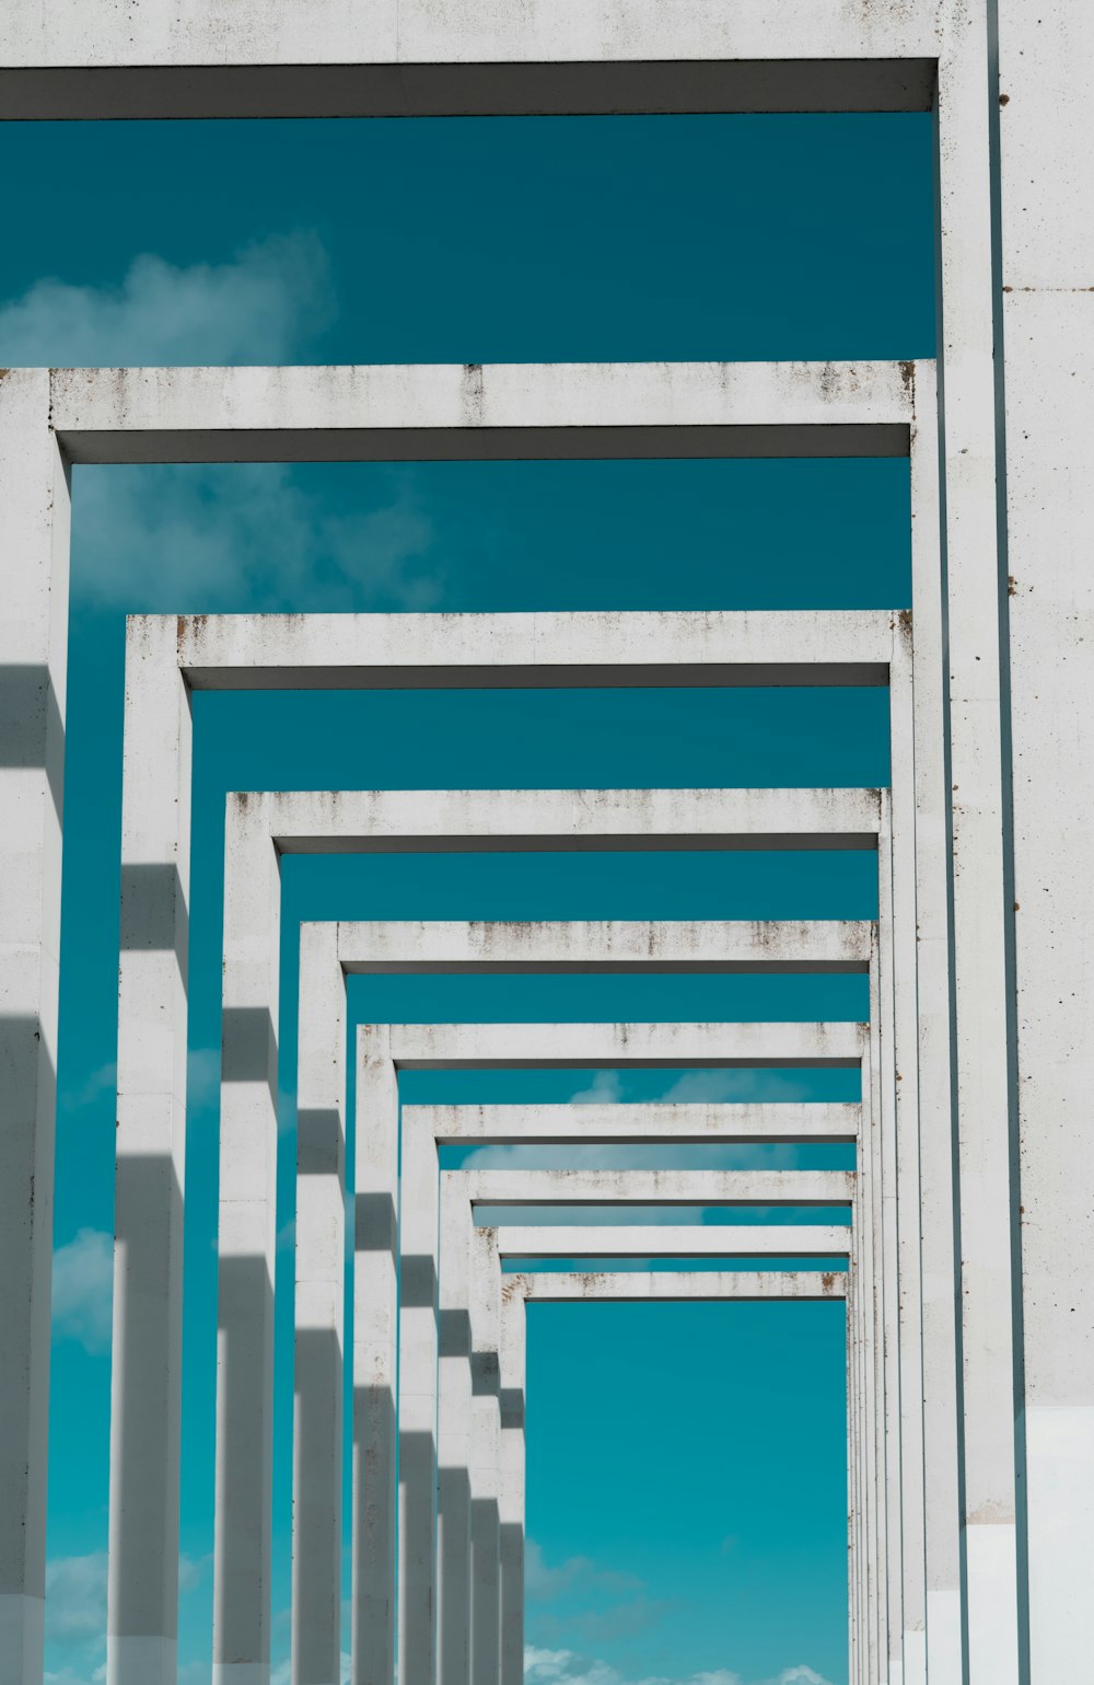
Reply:
[[[300,928],[293,1685],[340,1685],[345,982],[338,927]]]

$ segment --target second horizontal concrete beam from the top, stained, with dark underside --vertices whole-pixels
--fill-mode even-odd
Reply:
[[[56,369],[50,401],[71,462],[905,457],[912,369],[905,362]]]

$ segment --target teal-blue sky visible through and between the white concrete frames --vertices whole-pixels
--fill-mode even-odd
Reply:
[[[932,350],[924,116],[3,125],[0,175],[5,364]],[[88,1685],[103,1663],[125,613],[902,607],[907,497],[900,462],[76,472],[54,1685]],[[209,1678],[224,792],[879,784],[885,735],[879,691],[197,698],[183,1685]],[[295,999],[291,935],[305,917],[868,917],[874,905],[863,854],[295,859],[283,1001]],[[855,1018],[863,996],[840,977],[389,977],[355,981],[352,1008],[407,1019]],[[286,1009],[286,1168],[293,1062]],[[845,1083],[646,1072],[606,1073],[594,1092],[852,1097]],[[406,1092],[520,1100],[587,1089],[589,1073],[438,1073]],[[724,1149],[705,1161],[734,1159]],[[816,1149],[808,1159],[843,1161]],[[281,1205],[288,1223],[291,1173]],[[288,1294],[279,1318],[278,1660]],[[537,1306],[528,1326],[532,1685],[843,1685],[836,1309]]]

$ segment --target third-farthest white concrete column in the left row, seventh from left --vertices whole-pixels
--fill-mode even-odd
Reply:
[[[468,1213],[441,1200],[438,1365],[438,1678],[471,1666],[471,1311]]]

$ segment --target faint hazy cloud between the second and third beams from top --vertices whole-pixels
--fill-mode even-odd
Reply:
[[[412,468],[337,512],[288,463],[79,468],[72,593],[130,613],[429,608],[443,575]]]

